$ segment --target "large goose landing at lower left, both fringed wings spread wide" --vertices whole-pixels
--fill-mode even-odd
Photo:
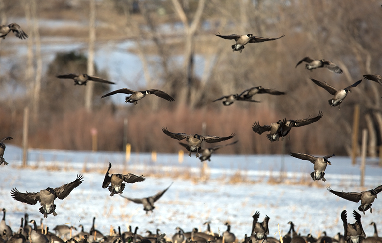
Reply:
[[[40,205],[42,206],[39,209],[40,213],[44,214],[44,218],[47,218],[48,214],[53,214],[53,216],[57,215],[57,213],[55,212],[55,199],[59,198],[63,200],[70,194],[70,192],[75,187],[79,186],[82,182],[83,176],[80,174],[79,176],[77,175],[77,179],[75,179],[73,182],[64,184],[54,189],[51,187],[47,187],[44,190],[40,190],[40,192],[21,193],[16,188],[12,188],[10,194],[16,201],[27,203],[30,205],[35,205],[37,202],[40,202]]]

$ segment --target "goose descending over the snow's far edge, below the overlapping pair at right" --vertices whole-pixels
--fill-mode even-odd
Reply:
[[[324,157],[315,157],[310,154],[302,154],[302,153],[289,153],[292,157],[301,159],[301,160],[309,160],[312,164],[314,164],[313,169],[314,172],[311,173],[311,177],[313,181],[321,180],[326,181],[325,179],[325,169],[327,165],[331,165],[331,162],[327,159],[335,156],[335,154],[332,155],[326,155]]]

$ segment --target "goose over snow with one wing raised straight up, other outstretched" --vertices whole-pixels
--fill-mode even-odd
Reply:
[[[125,183],[127,182],[129,184],[135,183],[135,182],[143,182],[145,180],[144,176],[136,176],[134,174],[128,173],[126,175],[122,174],[112,174],[109,176],[109,170],[112,168],[112,164],[109,162],[109,168],[105,174],[104,182],[102,182],[102,188],[107,188],[109,184],[109,191],[110,196],[113,196],[115,194],[122,194],[122,192],[125,189]]]

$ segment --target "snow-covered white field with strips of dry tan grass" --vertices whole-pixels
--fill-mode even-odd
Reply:
[[[260,211],[260,221],[265,215],[270,217],[269,236],[277,237],[277,224],[285,234],[289,221],[293,221],[296,231],[303,235],[311,232],[318,236],[325,230],[333,236],[337,232],[343,234],[341,211],[348,210],[348,221],[353,223],[351,211],[357,209],[359,203],[341,199],[325,187],[362,191],[382,184],[382,168],[375,160],[368,160],[365,186],[360,187],[359,161],[352,166],[350,158],[337,156],[330,158],[332,166],[326,169],[326,182],[311,181],[309,173],[313,165],[289,155],[215,154],[208,162],[206,178],[200,178],[202,163],[194,155],[188,157],[187,154],[182,164],[178,163],[176,154],[158,154],[156,162],[151,161],[151,154],[132,154],[126,170],[123,153],[30,150],[31,166],[24,169],[20,167],[21,149],[7,145],[4,158],[9,165],[0,167],[0,207],[7,209],[6,222],[15,229],[24,213],[36,222],[40,222],[42,214],[38,211],[39,205],[13,200],[11,188],[38,192],[71,182],[80,173],[84,175],[84,182],[64,200],[55,201],[56,217],[48,215],[44,219],[50,229],[69,223],[83,224],[85,231],[89,231],[94,216],[96,228],[105,234],[110,227],[121,226],[125,231],[127,225],[131,225],[133,228],[139,226],[140,234],[159,228],[172,236],[177,226],[185,231],[194,227],[204,230],[203,223],[210,220],[212,230],[220,233],[226,230],[224,223],[229,221],[231,231],[242,239],[244,234],[250,234],[252,215]],[[155,203],[154,213],[146,215],[142,205],[118,195],[110,197],[109,191],[102,189],[109,162],[113,165],[111,173],[124,171],[146,176],[144,182],[126,184],[125,196],[147,197],[165,189],[171,182],[174,184]],[[284,182],[271,183],[280,178],[281,170],[285,172]],[[232,183],[234,181],[241,182]],[[373,233],[369,225],[372,221],[382,231],[382,199],[375,200],[372,214],[368,211],[361,216],[366,235]]]

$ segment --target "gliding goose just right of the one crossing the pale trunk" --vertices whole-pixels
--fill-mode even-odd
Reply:
[[[128,103],[134,103],[134,105],[138,104],[138,100],[143,99],[146,95],[156,95],[162,99],[168,100],[170,102],[174,101],[174,98],[170,95],[166,94],[162,90],[159,89],[148,89],[145,91],[135,91],[127,88],[123,89],[117,89],[110,93],[107,93],[106,95],[101,96],[101,98],[104,98],[106,96],[114,95],[117,93],[123,93],[123,94],[131,94],[130,96],[125,97],[125,102]]]

